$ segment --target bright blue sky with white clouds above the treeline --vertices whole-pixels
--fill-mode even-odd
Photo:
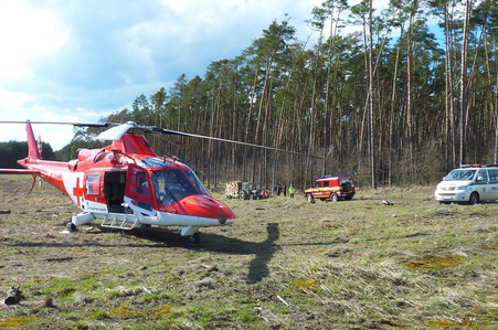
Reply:
[[[0,0],[0,120],[96,123],[181,74],[234,58],[287,13],[296,36],[322,0]],[[60,150],[72,126],[33,125]],[[0,141],[25,141],[0,124]]]

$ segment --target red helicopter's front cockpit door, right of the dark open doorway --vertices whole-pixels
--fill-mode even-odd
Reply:
[[[152,211],[155,198],[150,173],[134,163],[128,164],[125,196],[130,199],[135,206]]]

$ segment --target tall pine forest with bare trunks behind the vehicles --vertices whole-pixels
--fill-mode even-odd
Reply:
[[[496,1],[327,0],[316,42],[273,21],[234,58],[180,76],[103,120],[285,149],[148,137],[208,187],[229,180],[305,188],[349,173],[359,187],[435,184],[460,163],[497,163]]]

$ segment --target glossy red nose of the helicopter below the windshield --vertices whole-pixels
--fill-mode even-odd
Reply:
[[[229,206],[210,195],[190,195],[182,199],[179,204],[189,215],[216,219],[220,224],[235,219]]]

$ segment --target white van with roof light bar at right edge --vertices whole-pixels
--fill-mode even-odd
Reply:
[[[462,164],[443,178],[434,195],[445,204],[498,200],[498,167]]]

